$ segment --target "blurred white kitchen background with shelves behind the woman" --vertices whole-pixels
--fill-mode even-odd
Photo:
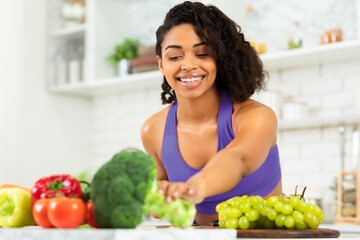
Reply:
[[[140,126],[164,107],[155,31],[180,2],[0,1],[0,183],[91,174],[120,149],[143,149]],[[284,193],[307,186],[326,222],[339,204],[359,216],[360,0],[202,2],[241,26],[269,73],[254,99],[279,118]],[[125,39],[137,55],[113,64]],[[354,172],[338,188],[344,171]]]

